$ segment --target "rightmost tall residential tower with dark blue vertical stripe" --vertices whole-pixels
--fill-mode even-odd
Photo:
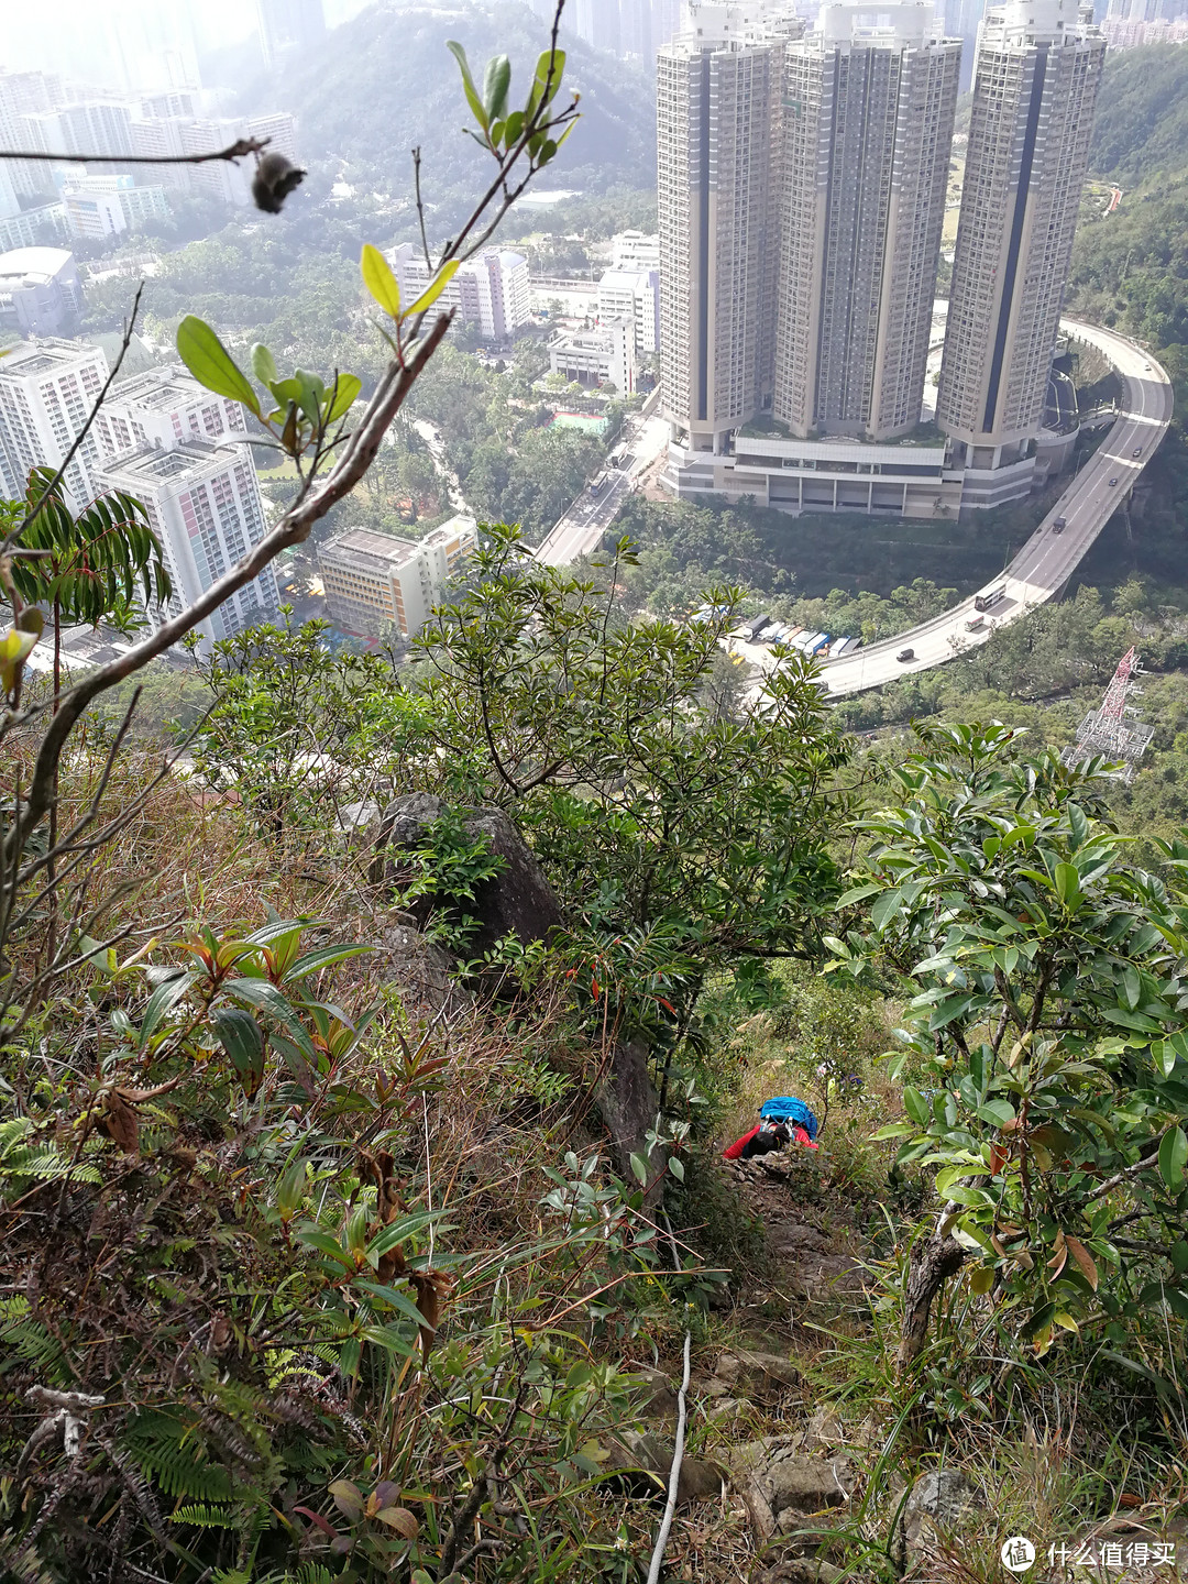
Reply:
[[[1026,494],[1106,40],[1077,0],[982,22],[936,418],[963,505]]]

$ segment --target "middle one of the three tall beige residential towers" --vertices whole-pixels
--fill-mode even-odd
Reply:
[[[794,436],[920,421],[960,62],[916,0],[827,5],[784,51],[775,417]]]

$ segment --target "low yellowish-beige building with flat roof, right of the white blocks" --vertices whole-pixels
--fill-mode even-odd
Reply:
[[[470,516],[453,516],[425,539],[348,527],[318,546],[326,610],[348,632],[379,637],[394,627],[412,638],[477,543]]]

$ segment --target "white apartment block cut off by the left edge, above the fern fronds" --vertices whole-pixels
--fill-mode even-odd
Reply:
[[[32,341],[0,358],[0,483],[10,499],[25,493],[32,467],[62,464],[106,377],[103,352],[79,341]],[[98,464],[92,428],[63,478],[73,510],[98,494]]]

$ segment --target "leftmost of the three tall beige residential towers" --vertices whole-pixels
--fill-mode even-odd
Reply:
[[[691,5],[656,62],[661,380],[673,439],[721,453],[771,407],[782,5]]]

